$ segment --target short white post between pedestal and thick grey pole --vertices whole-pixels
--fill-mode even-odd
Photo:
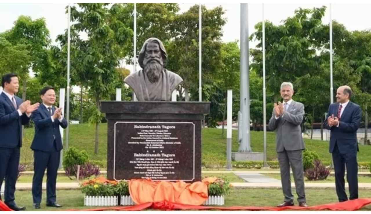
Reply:
[[[232,90],[227,91],[227,170],[232,170]]]

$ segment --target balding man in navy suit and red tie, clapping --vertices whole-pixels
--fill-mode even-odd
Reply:
[[[358,198],[358,163],[357,130],[361,122],[361,108],[349,101],[352,90],[349,86],[340,86],[336,91],[336,102],[330,104],[325,128],[331,130],[329,152],[335,169],[336,194],[339,201],[347,201],[345,193],[345,165],[349,184],[349,199]]]

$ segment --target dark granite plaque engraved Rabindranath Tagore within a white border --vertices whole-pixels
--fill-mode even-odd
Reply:
[[[194,130],[191,122],[116,122],[114,179],[193,181]]]

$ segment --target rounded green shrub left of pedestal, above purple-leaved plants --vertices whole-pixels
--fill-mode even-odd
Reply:
[[[75,175],[75,165],[83,165],[89,160],[88,153],[85,150],[78,151],[75,147],[70,147],[66,151],[63,159],[63,168],[65,169],[66,175]]]

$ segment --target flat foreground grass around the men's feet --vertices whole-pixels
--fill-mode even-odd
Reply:
[[[334,188],[306,189],[305,193],[308,205],[328,204],[338,201]],[[63,205],[62,208],[46,207],[45,196],[46,192],[43,191],[41,209],[35,210],[32,207],[31,191],[17,190],[15,193],[17,205],[26,206],[27,211],[62,211],[69,209],[97,208],[84,207],[84,195],[79,190],[57,190],[57,202]],[[296,197],[296,195],[294,196]],[[360,189],[359,198],[371,198],[371,191]],[[234,189],[232,193],[226,196],[225,206],[276,206],[282,203],[282,201],[283,195],[280,189]],[[297,201],[295,201],[295,204],[298,204]],[[362,210],[371,211],[371,205],[364,207]]]

